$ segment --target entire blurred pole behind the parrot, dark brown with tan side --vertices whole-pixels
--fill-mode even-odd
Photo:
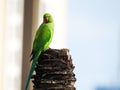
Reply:
[[[24,4],[24,37],[23,37],[23,63],[22,63],[22,88],[24,89],[30,68],[30,53],[33,37],[38,28],[39,0],[25,0]],[[32,42],[31,42],[32,41]],[[30,85],[32,87],[32,85]]]

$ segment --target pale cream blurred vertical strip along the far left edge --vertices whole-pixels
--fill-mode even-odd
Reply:
[[[0,0],[0,90],[3,90],[6,0]]]

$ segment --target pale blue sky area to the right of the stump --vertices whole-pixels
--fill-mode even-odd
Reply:
[[[120,0],[68,2],[68,46],[77,90],[117,85]]]

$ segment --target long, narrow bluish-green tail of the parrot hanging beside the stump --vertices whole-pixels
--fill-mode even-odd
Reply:
[[[28,86],[29,86],[29,83],[30,83],[30,79],[31,79],[31,76],[34,72],[34,69],[35,69],[35,66],[37,64],[37,61],[39,59],[39,56],[41,54],[41,51],[38,53],[38,55],[33,59],[32,61],[32,65],[31,65],[31,68],[30,68],[30,71],[29,71],[29,75],[28,75],[28,78],[27,78],[27,82],[26,82],[26,86],[25,86],[25,90],[28,90]]]

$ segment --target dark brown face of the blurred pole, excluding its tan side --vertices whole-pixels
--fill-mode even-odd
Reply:
[[[23,61],[22,61],[22,87],[24,90],[30,66],[31,36],[32,36],[32,10],[34,0],[24,0],[24,26],[23,26]]]

